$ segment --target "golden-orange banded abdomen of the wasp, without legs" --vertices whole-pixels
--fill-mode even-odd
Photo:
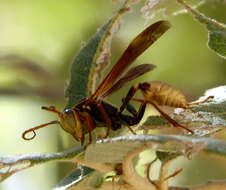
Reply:
[[[141,83],[140,89],[145,99],[157,105],[177,108],[187,107],[185,96],[179,90],[161,81]]]

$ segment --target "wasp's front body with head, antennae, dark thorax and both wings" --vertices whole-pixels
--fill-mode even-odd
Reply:
[[[105,137],[109,136],[110,130],[118,130],[122,125],[128,126],[132,131],[131,126],[138,124],[143,117],[146,102],[141,103],[139,110],[136,111],[135,108],[129,105],[127,106],[125,103],[123,103],[122,107],[117,108],[104,101],[104,98],[122,88],[127,82],[155,68],[152,64],[141,64],[126,72],[126,69],[134,60],[169,28],[170,23],[163,20],[147,27],[133,39],[111,71],[90,97],[82,99],[71,109],[66,109],[63,112],[56,110],[55,107],[52,106],[43,106],[42,109],[56,113],[59,120],[28,129],[23,133],[22,137],[25,140],[31,140],[36,136],[36,130],[51,124],[59,124],[63,130],[70,133],[77,141],[81,141],[81,144],[84,144],[86,132],[88,132],[89,135],[89,143],[92,142],[91,132],[96,127],[107,128]],[[123,114],[125,109],[130,112],[129,115]],[[33,132],[32,137],[26,137],[30,132]]]

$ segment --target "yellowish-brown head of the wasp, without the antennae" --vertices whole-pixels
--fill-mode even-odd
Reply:
[[[70,133],[76,140],[80,140],[82,137],[81,122],[76,114],[75,110],[64,110],[62,117],[60,118],[61,127],[68,133]]]

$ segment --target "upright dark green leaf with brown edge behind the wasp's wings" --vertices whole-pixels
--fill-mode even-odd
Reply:
[[[70,83],[65,91],[65,96],[69,98],[65,109],[72,108],[81,99],[92,94],[97,66],[102,67],[97,65],[98,59],[103,56],[103,53],[106,53],[106,49],[110,46],[115,24],[129,10],[129,2],[127,0],[115,16],[109,19],[75,56],[71,65]],[[107,57],[109,59],[109,56]]]

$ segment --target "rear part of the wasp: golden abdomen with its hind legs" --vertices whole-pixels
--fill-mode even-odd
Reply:
[[[144,100],[133,98],[138,90],[140,90],[143,94]],[[125,107],[129,105],[128,103],[131,99],[136,102],[146,102],[155,107],[155,109],[158,110],[158,112],[163,117],[165,117],[173,126],[183,128],[188,132],[193,133],[192,130],[188,129],[183,125],[180,125],[178,122],[173,120],[168,114],[166,114],[162,109],[160,109],[159,106],[187,109],[189,106],[205,103],[211,98],[214,97],[208,96],[203,101],[188,103],[185,95],[180,90],[161,81],[150,81],[133,85],[128,91],[126,97],[123,99],[123,105],[121,106],[121,109],[125,109]]]

